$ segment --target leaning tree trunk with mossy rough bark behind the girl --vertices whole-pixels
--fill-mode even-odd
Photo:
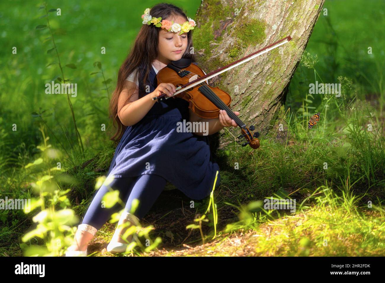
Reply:
[[[230,108],[246,126],[264,134],[278,118],[284,91],[308,43],[325,0],[203,0],[194,20],[201,68],[212,72],[290,35],[292,40],[209,80],[231,95]],[[240,128],[220,132],[219,147]]]

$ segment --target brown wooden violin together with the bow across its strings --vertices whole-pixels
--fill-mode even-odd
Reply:
[[[251,148],[257,149],[259,147],[259,132],[252,134],[255,127],[247,127],[246,124],[244,124],[244,122],[234,114],[229,107],[231,104],[231,96],[227,92],[219,89],[218,87],[209,86],[206,81],[211,77],[226,72],[237,65],[243,64],[244,62],[257,57],[258,55],[285,44],[289,40],[291,40],[290,36],[285,37],[284,39],[270,44],[264,49],[258,50],[206,75],[203,70],[198,67],[198,65],[191,62],[191,59],[182,58],[177,61],[171,61],[166,67],[162,68],[157,73],[157,84],[173,84],[176,87],[176,92],[173,94],[172,98],[175,98],[177,95],[177,97],[181,97],[189,102],[189,108],[203,119],[218,118],[220,110],[226,111],[228,116],[241,128],[241,134],[237,138],[242,139],[244,137],[246,139],[246,142],[243,143],[242,146],[247,146],[249,144]],[[159,100],[169,98],[171,97],[166,94],[161,94],[154,97],[153,100],[157,100],[157,102],[159,102]],[[237,142],[240,142],[240,140]]]

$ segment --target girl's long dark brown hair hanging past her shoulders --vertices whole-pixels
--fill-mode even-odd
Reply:
[[[156,18],[162,17],[162,20],[177,16],[182,16],[186,18],[186,21],[188,20],[186,13],[181,8],[168,3],[156,4],[151,8],[150,15]],[[138,17],[138,21],[139,20],[140,18]],[[118,117],[117,111],[119,94],[123,90],[127,77],[136,69],[138,70],[138,73],[135,72],[134,81],[136,81],[136,79],[139,81],[139,98],[143,94],[144,86],[147,85],[147,81],[149,79],[149,73],[152,67],[151,64],[158,56],[160,30],[160,27],[155,27],[152,23],[151,25],[142,25],[131,51],[119,69],[116,88],[112,94],[109,105],[109,116],[115,127],[115,134],[110,138],[110,140],[115,141],[115,143],[119,142],[127,128],[127,126],[122,124]],[[187,32],[187,48],[182,55],[182,58],[188,58],[192,60],[191,62],[195,62],[196,57],[194,53],[190,53],[192,47],[192,31],[193,30]],[[130,97],[126,100],[125,105],[129,99]]]

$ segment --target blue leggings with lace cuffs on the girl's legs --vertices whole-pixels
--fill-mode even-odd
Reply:
[[[102,198],[105,193],[110,191],[109,187],[113,190],[119,190],[119,198],[126,203],[124,209],[126,212],[130,212],[134,199],[139,200],[139,206],[134,215],[140,220],[149,212],[165,186],[166,179],[155,174],[115,178],[108,186],[102,185],[97,190],[84,215],[82,224],[91,225],[99,230],[113,213],[122,209],[122,205],[119,203],[116,203],[112,208],[102,207]]]

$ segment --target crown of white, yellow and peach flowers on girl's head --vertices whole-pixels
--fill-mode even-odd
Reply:
[[[161,27],[166,29],[169,32],[180,32],[179,35],[181,35],[184,32],[189,32],[189,30],[193,30],[196,26],[196,23],[191,18],[188,18],[187,22],[184,22],[182,25],[179,25],[179,23],[174,23],[174,21],[170,22],[168,20],[162,20],[162,17],[156,18],[151,17],[150,15],[150,8],[147,8],[144,10],[144,14],[142,15],[143,24],[151,25],[153,23],[156,27]],[[162,20],[162,22],[161,22]]]

